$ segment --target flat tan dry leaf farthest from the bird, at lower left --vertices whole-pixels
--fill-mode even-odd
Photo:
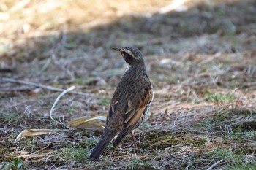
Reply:
[[[25,129],[24,131],[20,132],[20,134],[16,137],[15,142],[19,142],[20,139],[23,139],[26,136],[37,136],[37,135],[45,135],[51,134],[56,131],[69,131],[64,129]]]

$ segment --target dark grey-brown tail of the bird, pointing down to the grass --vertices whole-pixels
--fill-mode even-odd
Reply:
[[[102,139],[100,139],[97,146],[94,148],[94,150],[91,152],[90,161],[96,161],[99,159],[99,156],[102,154],[102,152],[105,150],[105,148],[108,146],[108,144],[111,141],[110,137],[110,130],[105,129],[104,134],[102,136]]]

